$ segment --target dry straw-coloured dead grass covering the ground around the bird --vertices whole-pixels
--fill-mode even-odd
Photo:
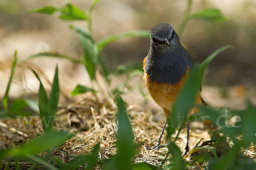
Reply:
[[[140,152],[134,157],[133,162],[145,161],[150,164],[161,166],[163,160],[168,152],[168,141],[162,142],[160,150],[146,150],[145,145],[152,146],[156,143],[156,140],[160,136],[163,121],[154,122],[153,115],[145,112],[140,106],[131,105],[128,107],[128,113],[131,118],[132,128],[134,130],[134,141],[138,144],[142,144]],[[43,133],[43,128],[40,123],[39,117],[27,117],[27,120],[32,120],[30,126],[26,126],[23,123],[19,127],[18,119],[6,119],[1,120],[0,124],[0,148],[9,148],[12,144],[22,144],[33,136]],[[20,121],[22,119],[20,118]],[[90,152],[93,146],[100,142],[99,159],[108,159],[116,154],[116,108],[108,103],[99,103],[91,98],[84,97],[81,102],[73,103],[68,106],[61,106],[61,109],[57,113],[57,119],[55,122],[55,129],[66,129],[70,132],[76,132],[83,128],[75,137],[64,142],[57,150],[54,151],[54,155],[58,156],[62,161],[68,162],[72,159],[72,156],[79,155],[81,153]],[[172,136],[172,140],[175,135]],[[164,138],[163,138],[164,139]],[[192,122],[189,147],[192,150],[195,146],[203,144],[203,142],[209,141],[209,132],[204,128],[204,125],[200,122]],[[186,146],[186,128],[184,128],[176,144],[183,151]],[[211,146],[211,144],[209,144]],[[227,145],[227,147],[229,147]],[[221,146],[219,147],[221,148]],[[220,156],[223,152],[219,151]],[[244,155],[255,159],[256,147],[243,150]],[[196,152],[191,155],[186,155],[184,159],[190,162],[195,154],[202,154]],[[165,161],[164,164],[168,164],[169,161]],[[11,164],[11,166],[13,163]],[[29,162],[20,162],[20,169],[28,169],[32,166]],[[188,169],[202,169],[207,166],[204,164],[195,164]],[[98,165],[96,169],[101,169],[101,165]]]

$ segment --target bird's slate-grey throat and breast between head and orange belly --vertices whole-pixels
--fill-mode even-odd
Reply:
[[[160,49],[151,45],[145,61],[145,72],[154,82],[174,85],[186,74],[187,66],[191,69],[193,60],[181,44],[178,48],[165,45]]]

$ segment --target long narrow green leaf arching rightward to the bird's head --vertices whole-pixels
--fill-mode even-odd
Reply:
[[[97,42],[98,51],[99,52],[102,51],[102,49],[108,43],[115,41],[115,40],[119,40],[124,37],[147,37],[147,38],[149,38],[150,31],[148,31],[148,30],[132,30],[132,31],[121,33],[121,34],[111,35],[111,36],[106,37],[106,38],[100,40],[99,42]]]

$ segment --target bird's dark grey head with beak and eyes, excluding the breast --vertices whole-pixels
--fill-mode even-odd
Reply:
[[[170,48],[177,48],[180,40],[173,27],[169,23],[155,25],[150,31],[151,46],[162,48],[168,45]]]

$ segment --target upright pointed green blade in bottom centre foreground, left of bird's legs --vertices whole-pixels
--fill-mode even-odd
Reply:
[[[131,159],[135,156],[137,148],[134,144],[126,104],[119,95],[116,97],[116,106],[118,112],[116,167],[118,170],[130,170]]]

